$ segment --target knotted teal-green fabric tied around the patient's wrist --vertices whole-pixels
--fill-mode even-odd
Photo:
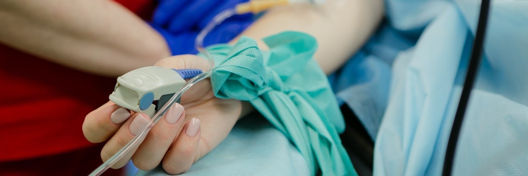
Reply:
[[[264,41],[242,36],[234,46],[214,45],[211,84],[216,97],[249,101],[303,154],[312,173],[357,175],[338,132],[344,121],[324,72],[312,58],[316,40],[283,32]]]

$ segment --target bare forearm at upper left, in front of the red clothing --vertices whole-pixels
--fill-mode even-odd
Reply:
[[[0,42],[70,68],[120,76],[168,57],[156,31],[107,0],[2,0]]]

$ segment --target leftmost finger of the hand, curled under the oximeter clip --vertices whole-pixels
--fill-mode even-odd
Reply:
[[[113,104],[110,101],[105,105],[92,111],[84,118],[82,133],[92,143],[107,140],[130,117],[130,111],[128,109]]]

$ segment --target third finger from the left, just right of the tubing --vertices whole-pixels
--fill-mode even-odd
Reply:
[[[132,162],[138,169],[148,171],[159,165],[168,147],[180,131],[184,118],[183,106],[175,103],[167,111],[164,118],[159,119],[132,156]]]

